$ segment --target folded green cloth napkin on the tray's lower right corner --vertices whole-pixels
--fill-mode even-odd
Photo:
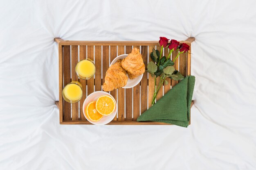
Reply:
[[[190,105],[195,86],[195,76],[186,76],[152,107],[145,111],[137,121],[154,121],[189,126]]]

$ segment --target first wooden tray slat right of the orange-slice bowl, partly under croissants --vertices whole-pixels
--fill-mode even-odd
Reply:
[[[118,55],[124,54],[124,46],[118,46]],[[124,88],[118,88],[118,120],[124,120]]]

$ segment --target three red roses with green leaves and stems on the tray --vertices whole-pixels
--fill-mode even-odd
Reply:
[[[159,40],[159,46],[161,46],[161,52],[158,50],[152,49],[152,52],[150,53],[150,57],[153,61],[148,62],[148,67],[146,72],[151,74],[152,77],[155,79],[155,93],[153,96],[153,100],[151,102],[152,105],[155,104],[155,99],[157,96],[157,93],[159,92],[159,89],[165,83],[165,85],[168,84],[168,81],[166,81],[166,78],[171,78],[175,81],[182,80],[184,76],[180,74],[179,71],[175,70],[173,67],[174,61],[180,56],[180,54],[189,51],[189,45],[186,43],[182,43],[180,45],[179,41],[176,41],[175,39],[172,39],[170,43],[168,43],[169,39],[166,37],[160,37]],[[168,57],[163,56],[162,52],[164,48],[168,48]],[[177,54],[177,56],[173,59],[173,61],[170,59],[171,53],[175,50],[179,50],[180,52]],[[156,78],[160,76],[160,82],[158,85],[156,85]]]

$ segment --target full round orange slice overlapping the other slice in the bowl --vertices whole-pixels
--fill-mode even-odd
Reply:
[[[114,112],[115,108],[115,100],[108,95],[100,96],[96,101],[96,109],[101,115],[108,116]]]

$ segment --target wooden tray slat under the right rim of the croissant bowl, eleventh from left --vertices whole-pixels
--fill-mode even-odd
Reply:
[[[145,68],[148,64],[148,46],[141,46],[141,57],[143,59]],[[148,73],[145,72],[141,79],[141,113],[148,109]]]

